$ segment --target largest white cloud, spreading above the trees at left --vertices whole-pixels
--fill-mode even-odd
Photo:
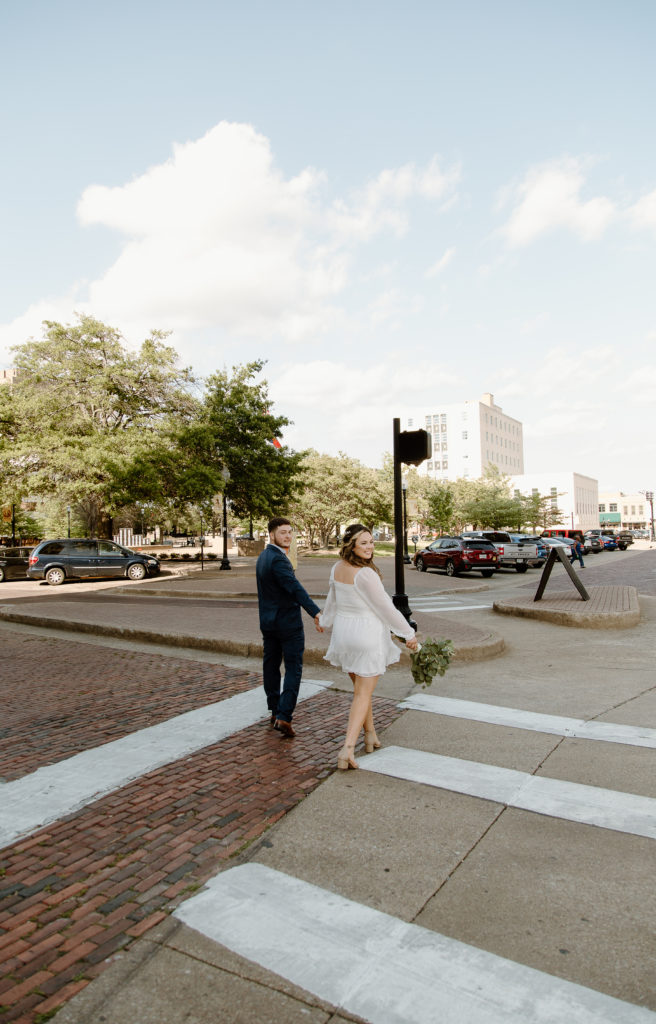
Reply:
[[[207,329],[267,342],[316,338],[342,315],[336,303],[353,272],[354,247],[404,230],[408,203],[443,198],[456,178],[434,159],[384,170],[348,199],[333,200],[320,171],[286,177],[264,135],[222,122],[124,185],[86,188],[80,223],[119,232],[120,255],[75,302],[69,296],[35,309],[39,319],[92,310],[128,336],[173,330],[176,345]],[[25,340],[28,322],[38,330],[33,313],[6,326],[4,337]]]

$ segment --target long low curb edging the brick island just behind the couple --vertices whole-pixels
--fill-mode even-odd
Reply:
[[[102,626],[97,623],[70,622],[46,615],[29,615],[20,611],[7,610],[0,607],[0,620],[7,623],[17,623],[23,626],[36,626],[43,629],[65,630],[69,633],[94,634],[96,636],[117,637],[120,640],[135,640],[140,643],[161,644],[169,647],[184,647],[191,650],[211,650],[220,654],[233,654],[240,657],[262,657],[261,642],[240,640],[222,640],[220,638],[194,637],[184,634],[156,633],[151,630],[131,629],[123,626]],[[491,633],[474,643],[460,644],[453,642],[453,659],[457,662],[482,662],[488,657],[500,654],[506,647],[502,637]],[[316,647],[306,647],[303,655],[306,665],[325,665],[325,651]],[[401,650],[401,664],[409,665],[410,655],[407,650]]]

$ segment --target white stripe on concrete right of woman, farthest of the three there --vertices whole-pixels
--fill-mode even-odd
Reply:
[[[556,736],[576,736],[579,739],[656,748],[656,729],[648,729],[646,726],[640,725],[619,725],[616,722],[585,721],[585,719],[565,718],[560,715],[541,715],[519,708],[477,703],[474,700],[456,700],[453,697],[436,696],[432,693],[412,693],[401,701],[399,708],[404,711],[421,711],[433,715],[446,715],[449,718],[463,718],[472,722],[486,722],[490,725],[505,725],[514,729],[529,729],[532,732],[548,732]]]

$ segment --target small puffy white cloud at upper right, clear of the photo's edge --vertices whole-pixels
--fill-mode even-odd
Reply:
[[[512,247],[528,245],[557,228],[573,231],[585,242],[600,238],[616,216],[603,196],[583,201],[583,162],[566,158],[529,170],[517,186],[504,190],[501,204],[515,204],[501,229]]]

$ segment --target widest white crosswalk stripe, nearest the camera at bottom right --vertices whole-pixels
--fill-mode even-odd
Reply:
[[[174,915],[374,1024],[654,1024],[656,1014],[249,863]]]

